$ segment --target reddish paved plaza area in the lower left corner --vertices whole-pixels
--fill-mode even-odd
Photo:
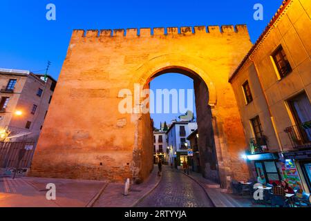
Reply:
[[[46,184],[56,185],[56,200],[46,199]],[[0,207],[84,207],[106,182],[35,177],[0,178]]]

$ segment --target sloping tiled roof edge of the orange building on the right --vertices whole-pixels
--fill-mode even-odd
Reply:
[[[279,10],[275,13],[274,17],[272,17],[272,19],[270,20],[269,24],[267,25],[267,27],[265,27],[265,30],[263,31],[263,33],[261,34],[261,36],[257,39],[256,43],[254,44],[254,46],[252,46],[251,50],[249,50],[249,52],[247,53],[247,55],[244,57],[243,61],[241,62],[241,64],[239,64],[238,68],[236,68],[236,70],[234,71],[234,73],[232,73],[232,75],[229,77],[229,82],[231,83],[232,79],[234,78],[234,76],[238,73],[239,70],[241,70],[241,68],[243,67],[243,65],[245,64],[245,61],[247,61],[247,59],[249,58],[250,55],[252,55],[252,53],[254,52],[254,50],[256,50],[256,48],[258,47],[258,45],[264,41],[265,36],[267,35],[267,33],[269,32],[270,28],[272,28],[272,26],[274,25],[274,23],[277,21],[277,19],[279,19],[279,17],[282,15],[282,13],[284,12],[284,10],[286,9],[286,7],[290,4],[292,0],[284,0],[281,7],[279,8]]]

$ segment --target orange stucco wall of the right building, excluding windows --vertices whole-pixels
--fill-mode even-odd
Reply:
[[[302,91],[311,98],[310,10],[311,1],[292,0],[250,57],[252,62],[247,61],[232,81],[246,138],[252,137],[249,119],[259,115],[263,131],[268,137],[270,151],[281,151],[282,148],[285,151],[292,150],[290,139],[284,130],[295,122],[290,119],[291,113],[286,108],[286,101]],[[292,73],[282,79],[278,79],[270,58],[280,45],[292,67]],[[242,85],[247,79],[254,102],[246,105]],[[274,118],[281,148],[270,117]]]

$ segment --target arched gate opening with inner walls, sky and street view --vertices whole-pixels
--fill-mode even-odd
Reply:
[[[169,84],[166,86],[169,89],[161,85],[153,86],[157,77],[162,81],[167,79]],[[183,88],[182,81],[191,81],[191,90]],[[163,164],[176,169],[182,169],[187,164],[191,170],[202,173],[214,182],[220,182],[209,89],[205,81],[187,68],[168,67],[151,76],[144,85],[146,88],[151,90],[147,96],[149,113],[142,116],[144,120],[140,124],[143,128],[147,127],[145,124],[153,124],[153,138],[150,145],[150,134],[141,131],[141,143],[144,146],[141,152],[134,151],[133,156],[138,159],[137,164],[141,165],[137,177],[141,177],[140,173],[149,172],[151,164],[146,159],[152,159],[154,163],[162,160]],[[190,135],[195,136],[193,142],[190,142]],[[153,151],[150,152],[150,149]],[[141,157],[141,154],[145,155]]]

